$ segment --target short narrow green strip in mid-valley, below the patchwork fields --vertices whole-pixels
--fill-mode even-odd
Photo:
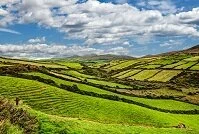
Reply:
[[[123,85],[123,84],[118,84],[118,83],[108,82],[108,81],[102,81],[102,80],[87,79],[87,81],[94,83],[94,84],[107,85],[109,87],[132,88],[130,86],[126,86],[126,85]]]

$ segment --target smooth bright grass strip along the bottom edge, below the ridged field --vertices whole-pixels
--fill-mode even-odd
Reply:
[[[122,124],[103,124],[78,118],[67,118],[48,115],[24,106],[31,114],[39,119],[39,133],[67,133],[67,134],[138,134],[138,133],[162,133],[162,134],[191,134],[188,129],[154,128],[145,126],[130,126]]]

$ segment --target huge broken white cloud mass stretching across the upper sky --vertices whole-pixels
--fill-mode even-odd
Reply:
[[[0,18],[0,27],[37,23],[57,28],[66,38],[82,39],[87,45],[120,44],[132,38],[143,42],[155,36],[199,36],[198,8],[176,13],[178,9],[170,0],[149,0],[142,4],[151,10],[97,0],[81,4],[77,0],[22,0],[9,4],[5,9],[8,14]]]

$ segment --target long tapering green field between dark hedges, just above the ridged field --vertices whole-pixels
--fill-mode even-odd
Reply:
[[[153,106],[153,107],[157,107],[157,108],[160,108],[160,109],[168,109],[168,110],[193,110],[193,109],[199,109],[199,106],[196,106],[196,105],[193,105],[193,104],[184,103],[184,102],[179,102],[179,101],[175,101],[175,100],[168,100],[168,101],[167,100],[162,100],[162,99],[152,100],[152,99],[146,99],[146,98],[125,96],[125,95],[121,95],[121,94],[116,94],[116,93],[113,93],[113,92],[105,91],[105,90],[102,90],[102,89],[99,89],[99,88],[96,88],[96,87],[92,87],[92,86],[89,86],[89,85],[61,80],[61,79],[58,79],[58,78],[55,78],[55,77],[52,77],[52,76],[48,76],[46,74],[41,74],[41,73],[31,73],[31,74],[34,75],[34,76],[40,76],[41,78],[51,79],[51,80],[55,81],[58,85],[65,84],[65,85],[68,85],[68,86],[72,86],[72,85],[76,84],[78,86],[78,88],[80,90],[82,90],[82,91],[94,92],[94,93],[98,93],[98,94],[114,95],[114,96],[118,96],[118,97],[121,97],[121,98],[133,100],[133,101],[136,101],[136,102],[140,102],[140,103],[143,103],[143,104],[145,104],[146,100],[148,100],[149,103],[147,103],[147,105]],[[157,101],[157,103],[152,103],[154,101]],[[162,105],[162,104],[166,104],[166,106]],[[178,107],[171,107],[173,104],[180,105],[180,106],[179,106],[179,108]]]

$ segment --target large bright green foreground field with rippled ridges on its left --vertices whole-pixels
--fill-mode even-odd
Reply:
[[[199,115],[176,115],[140,106],[82,96],[40,82],[1,76],[0,94],[21,98],[35,110],[103,123],[172,127],[183,122],[198,132]]]

